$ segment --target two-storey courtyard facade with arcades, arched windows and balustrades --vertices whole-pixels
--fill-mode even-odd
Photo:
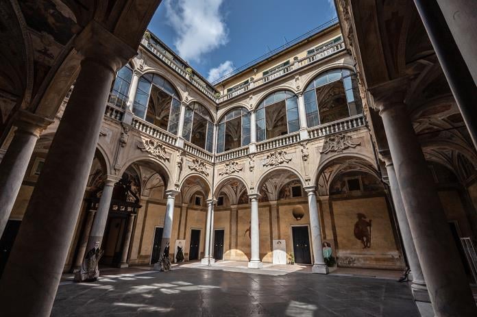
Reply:
[[[171,258],[180,244],[186,260],[319,264],[324,243],[337,266],[403,269],[353,65],[334,24],[213,87],[147,32],[112,85],[64,271],[101,239],[103,264],[154,264],[168,235]],[[61,117],[36,144],[8,230]],[[469,201],[454,189],[441,198],[472,235]]]

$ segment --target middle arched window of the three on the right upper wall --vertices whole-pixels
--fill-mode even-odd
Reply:
[[[298,98],[280,90],[269,94],[256,110],[257,142],[299,130]]]

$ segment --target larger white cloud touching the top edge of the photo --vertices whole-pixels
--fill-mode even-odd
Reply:
[[[228,42],[228,29],[220,12],[223,0],[166,0],[166,17],[177,34],[175,48],[184,60],[200,62],[206,54]]]

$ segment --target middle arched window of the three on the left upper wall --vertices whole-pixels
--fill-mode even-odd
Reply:
[[[147,73],[140,77],[132,112],[171,134],[178,133],[179,94],[171,83],[160,75]]]

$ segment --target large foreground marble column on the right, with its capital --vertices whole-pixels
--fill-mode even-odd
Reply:
[[[428,164],[402,102],[403,83],[371,90],[380,109],[397,183],[436,316],[477,316],[477,307],[452,239]],[[395,88],[395,90],[393,90]]]

